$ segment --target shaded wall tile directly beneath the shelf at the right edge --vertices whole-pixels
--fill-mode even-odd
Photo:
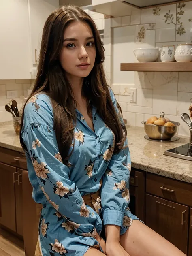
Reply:
[[[179,92],[192,92],[192,73],[191,72],[179,72]]]

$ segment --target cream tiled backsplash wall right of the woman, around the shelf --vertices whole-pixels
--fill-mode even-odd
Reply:
[[[130,16],[105,19],[105,66],[111,86],[132,126],[161,111],[180,122],[179,134],[189,135],[180,115],[189,113],[192,98],[192,73],[125,72],[120,63],[137,62],[133,50],[191,43],[192,1],[149,9],[132,9]],[[130,103],[131,88],[136,88],[137,103]]]

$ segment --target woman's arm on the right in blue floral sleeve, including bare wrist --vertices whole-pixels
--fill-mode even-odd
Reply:
[[[110,94],[117,115],[123,122],[112,90],[110,90]],[[126,145],[128,145],[127,140],[124,143],[124,146]],[[103,176],[101,201],[107,243],[111,243],[111,241],[119,243],[124,211],[130,200],[130,168],[130,153],[128,147],[126,147],[126,149],[112,156],[107,171]]]

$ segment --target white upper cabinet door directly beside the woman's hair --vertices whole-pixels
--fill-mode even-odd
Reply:
[[[29,0],[32,62],[38,63],[43,26],[48,16],[59,7],[59,0]]]

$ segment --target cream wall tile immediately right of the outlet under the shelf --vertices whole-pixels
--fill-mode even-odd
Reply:
[[[137,89],[137,105],[143,107],[152,107],[153,105],[153,90]]]

